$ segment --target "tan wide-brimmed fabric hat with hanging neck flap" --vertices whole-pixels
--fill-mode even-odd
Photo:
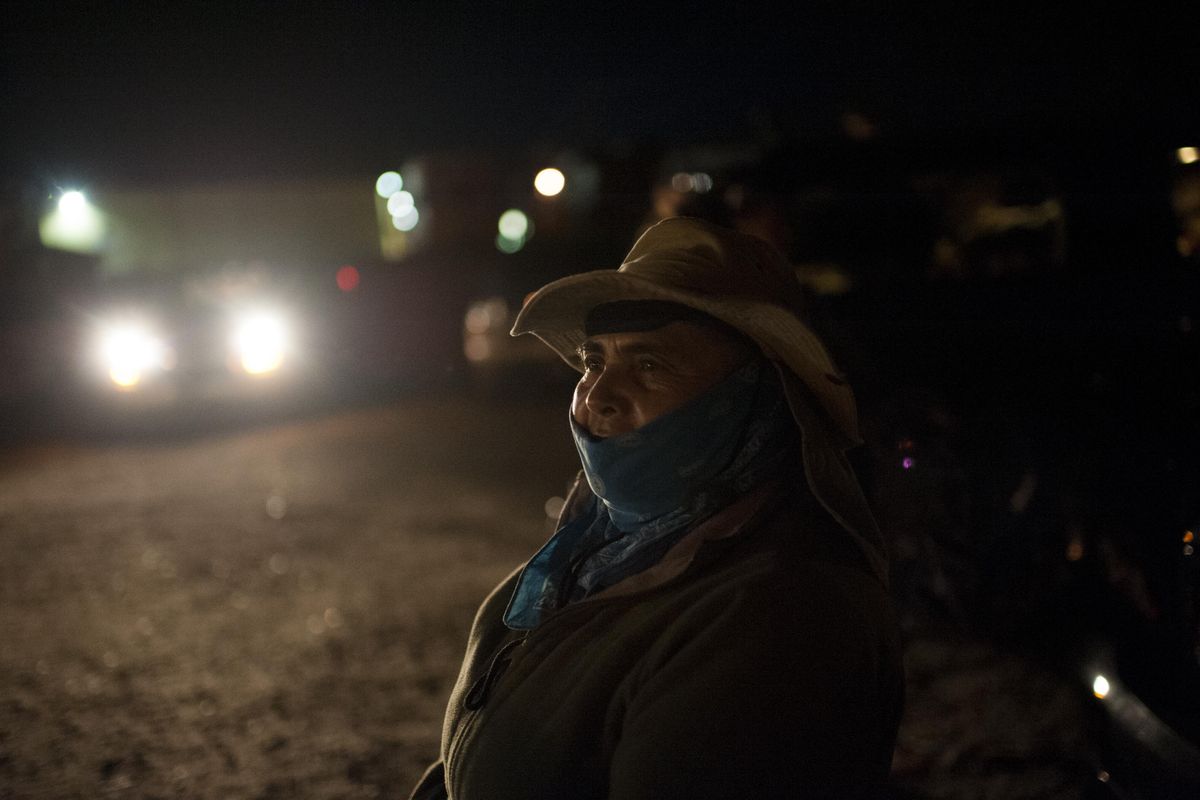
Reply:
[[[512,336],[533,333],[582,369],[577,348],[588,312],[622,300],[659,300],[701,311],[750,337],[779,368],[803,438],[812,493],[862,546],[887,581],[878,528],[846,459],[862,444],[854,393],[816,333],[799,317],[800,287],[767,242],[690,217],[650,227],[617,270],[546,284],[526,301]]]

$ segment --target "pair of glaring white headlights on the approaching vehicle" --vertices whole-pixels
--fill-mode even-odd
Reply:
[[[242,372],[260,375],[283,366],[288,326],[274,311],[238,315],[230,327],[229,353]],[[148,377],[175,367],[175,353],[152,325],[143,320],[114,320],[100,335],[100,357],[118,389],[137,387]]]

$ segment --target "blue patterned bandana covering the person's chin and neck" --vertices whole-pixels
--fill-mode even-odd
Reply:
[[[505,612],[516,630],[653,566],[696,523],[798,459],[779,375],[751,361],[629,433],[596,439],[571,420],[595,495],[529,560]]]

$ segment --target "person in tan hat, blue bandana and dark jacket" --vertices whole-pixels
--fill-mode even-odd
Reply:
[[[514,326],[582,371],[558,530],[484,601],[413,798],[852,798],[902,675],[853,395],[764,242],[660,222]]]

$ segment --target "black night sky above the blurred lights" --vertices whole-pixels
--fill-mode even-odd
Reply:
[[[847,110],[931,139],[1200,133],[1193,14],[1168,6],[811,5],[22,4],[5,174],[360,174],[433,149],[832,134]]]

